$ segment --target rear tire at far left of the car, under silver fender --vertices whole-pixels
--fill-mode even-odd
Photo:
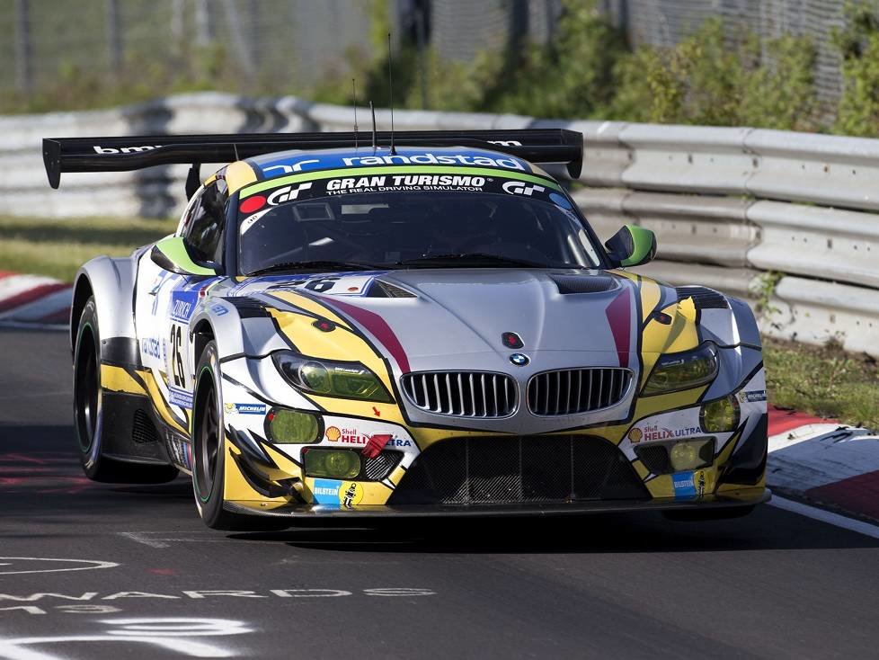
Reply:
[[[111,484],[164,484],[177,477],[173,465],[145,465],[102,454],[102,419],[109,411],[101,388],[101,331],[94,297],[79,317],[74,347],[74,432],[79,462],[92,481]]]

